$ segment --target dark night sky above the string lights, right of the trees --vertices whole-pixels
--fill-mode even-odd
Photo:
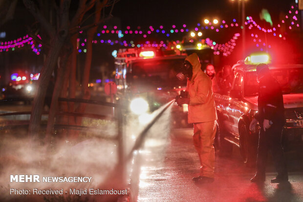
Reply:
[[[273,21],[280,11],[287,12],[293,0],[246,0],[245,12],[254,18],[266,8]],[[113,9],[122,26],[196,24],[206,18],[238,18],[238,1],[232,0],[119,0]],[[257,19],[256,19],[257,20]]]

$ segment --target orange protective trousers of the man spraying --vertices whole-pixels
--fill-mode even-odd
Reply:
[[[198,152],[201,167],[200,176],[214,178],[216,121],[194,123],[194,145]]]

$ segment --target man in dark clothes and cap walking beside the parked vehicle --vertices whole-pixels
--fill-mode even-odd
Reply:
[[[251,122],[249,129],[255,131],[257,122],[259,122],[260,134],[256,175],[251,179],[251,182],[265,181],[268,149],[271,150],[278,172],[278,176],[271,182],[286,182],[288,181],[288,173],[281,146],[282,128],[285,124],[282,91],[277,80],[270,74],[266,64],[257,65],[256,70],[259,83],[258,113]]]

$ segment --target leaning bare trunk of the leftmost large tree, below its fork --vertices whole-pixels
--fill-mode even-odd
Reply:
[[[60,50],[64,44],[64,40],[59,39],[56,36],[53,40],[52,46],[44,62],[38,80],[38,90],[36,91],[35,98],[33,101],[32,113],[29,121],[28,134],[31,140],[35,140],[39,137],[39,129],[41,124],[41,116],[43,112],[44,99],[49,83],[51,74],[53,73],[54,67],[59,57]]]

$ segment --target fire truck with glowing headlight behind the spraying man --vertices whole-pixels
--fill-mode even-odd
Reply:
[[[186,56],[174,49],[120,49],[115,57],[116,99],[129,103],[133,114],[147,117],[186,89],[186,81],[176,78]],[[172,114],[175,126],[188,126],[187,106],[175,104]]]

